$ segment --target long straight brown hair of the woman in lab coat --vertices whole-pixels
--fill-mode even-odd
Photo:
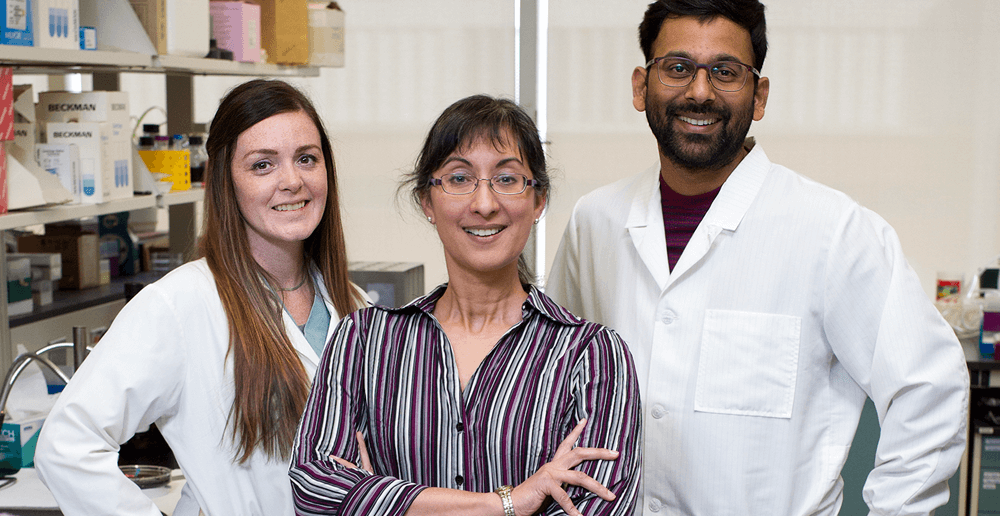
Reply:
[[[363,304],[347,275],[347,253],[341,227],[336,167],[330,140],[309,99],[291,85],[253,80],[233,88],[212,119],[206,142],[205,230],[201,254],[206,258],[229,323],[235,398],[227,425],[245,463],[258,447],[270,457],[288,457],[296,427],[309,395],[309,378],[285,334],[280,299],[253,259],[246,225],[236,201],[232,156],[239,135],[274,115],[302,111],[316,124],[327,169],[326,208],[319,226],[305,241],[305,260],[313,261],[337,315]]]

